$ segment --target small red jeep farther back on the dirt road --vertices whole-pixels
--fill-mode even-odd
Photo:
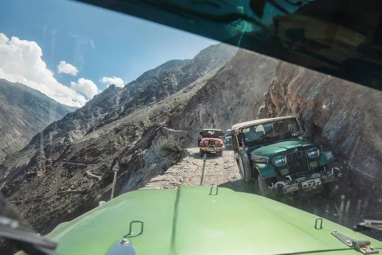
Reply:
[[[224,144],[221,139],[224,132],[219,129],[202,129],[198,138],[199,154],[201,157],[205,153],[215,153],[223,155]]]

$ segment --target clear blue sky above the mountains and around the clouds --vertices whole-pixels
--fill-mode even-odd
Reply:
[[[59,83],[71,86],[71,82],[84,78],[100,90],[107,86],[99,81],[101,77],[129,82],[169,59],[192,58],[216,43],[68,0],[2,1],[0,33],[8,39],[14,36],[36,42],[42,49],[42,60]],[[76,67],[76,76],[57,74],[60,61]]]

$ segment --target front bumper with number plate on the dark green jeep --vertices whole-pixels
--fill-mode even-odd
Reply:
[[[300,183],[286,184],[286,182],[283,182],[283,184],[281,185],[280,184],[281,182],[277,182],[276,185],[274,185],[273,187],[268,187],[268,191],[270,193],[270,196],[272,197],[291,193],[291,192],[314,193],[314,191],[321,190],[323,188],[322,185],[324,183],[329,183],[338,179],[339,178],[332,172],[331,174],[328,174],[326,176],[322,176],[320,178],[308,179]]]

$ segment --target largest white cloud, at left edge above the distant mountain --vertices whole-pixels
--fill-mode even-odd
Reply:
[[[81,107],[87,101],[71,88],[59,83],[42,60],[43,51],[36,42],[9,39],[0,33],[0,78],[20,82],[39,90],[57,102]]]

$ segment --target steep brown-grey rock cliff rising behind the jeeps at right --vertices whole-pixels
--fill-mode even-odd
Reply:
[[[260,54],[239,51],[196,93],[174,127],[201,128],[296,115],[310,139],[343,158],[352,183],[381,191],[382,93]],[[370,190],[369,190],[370,191]],[[371,193],[370,193],[371,194]]]

